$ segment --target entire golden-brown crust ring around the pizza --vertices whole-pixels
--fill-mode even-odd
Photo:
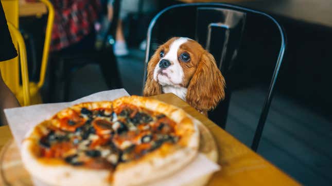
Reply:
[[[88,102],[75,105],[70,109],[78,111],[82,107],[88,109],[109,108],[110,103],[110,101]],[[197,123],[194,119],[191,119],[191,116],[183,110],[159,100],[139,96],[116,99],[113,101],[113,108],[124,103],[165,114],[178,123],[177,131],[186,133],[187,136],[181,137],[176,143],[178,144],[177,146],[164,143],[159,149],[138,160],[118,164],[113,175],[112,185],[140,185],[148,183],[181,170],[196,157],[199,148],[199,131]],[[61,113],[63,111],[57,113],[58,116],[63,114]],[[41,129],[43,128],[41,126],[48,125],[52,125],[50,120],[40,123],[27,134],[26,139],[22,143],[22,161],[25,168],[34,177],[51,185],[111,185],[109,182],[111,174],[109,170],[73,167],[62,160],[56,159],[54,159],[53,163],[50,163],[50,161],[47,163],[41,162],[36,156],[38,153],[36,152],[37,148],[33,147],[39,145],[38,140],[42,135]]]

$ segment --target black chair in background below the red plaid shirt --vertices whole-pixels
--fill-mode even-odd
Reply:
[[[51,55],[49,67],[49,102],[54,101],[53,97],[56,92],[56,84],[59,81],[64,81],[63,100],[68,101],[69,88],[71,86],[73,73],[78,68],[90,63],[99,63],[109,89],[122,88],[117,67],[117,59],[113,53],[113,47],[111,45],[105,45],[108,39],[107,36],[109,34],[115,35],[120,10],[120,0],[114,0],[113,9],[113,21],[109,26],[107,34],[105,34],[105,37],[102,39],[103,42],[99,48],[96,48],[94,44],[92,44],[91,50],[89,49],[88,51],[72,53],[69,50],[69,52],[60,51]]]

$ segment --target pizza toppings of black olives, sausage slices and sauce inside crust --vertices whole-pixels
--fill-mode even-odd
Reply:
[[[130,104],[117,109],[68,110],[56,115],[60,127],[40,138],[41,157],[60,158],[72,166],[114,168],[160,148],[176,143],[175,122],[164,114]],[[104,165],[103,165],[104,164]]]

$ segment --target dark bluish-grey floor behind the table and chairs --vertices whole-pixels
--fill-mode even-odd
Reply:
[[[124,88],[141,94],[144,52],[130,50],[118,58]],[[89,77],[85,74],[91,74]],[[107,90],[97,65],[88,65],[74,75],[70,100]],[[252,86],[232,95],[226,131],[250,146],[265,89]],[[260,141],[258,153],[305,185],[332,183],[331,121],[299,102],[276,93]]]

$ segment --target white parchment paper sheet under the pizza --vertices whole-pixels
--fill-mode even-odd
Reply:
[[[53,116],[58,111],[66,107],[78,104],[80,102],[113,100],[122,96],[129,96],[129,94],[125,89],[116,89],[98,92],[72,102],[61,102],[58,104],[41,104],[28,107],[5,109],[5,114],[9,123],[10,130],[14,136],[15,142],[20,148],[21,142],[24,139],[25,134],[30,129],[32,129],[34,126],[36,126],[43,120]],[[159,180],[158,182],[149,184],[149,186],[180,186],[206,174],[218,171],[219,169],[220,167],[218,166],[218,164],[207,159],[205,155],[199,154],[193,162],[188,164],[181,171],[167,178]],[[35,185],[38,186],[49,186],[45,183],[41,183],[36,179],[33,179],[33,182]]]

